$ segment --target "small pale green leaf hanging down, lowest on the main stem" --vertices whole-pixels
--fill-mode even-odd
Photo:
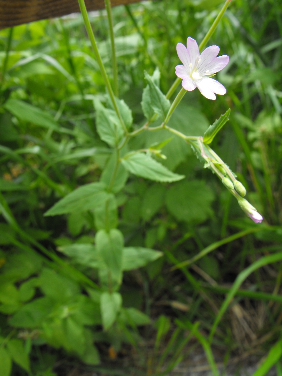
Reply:
[[[120,311],[122,298],[120,293],[103,293],[101,295],[100,307],[102,323],[105,330],[108,330],[117,318]]]

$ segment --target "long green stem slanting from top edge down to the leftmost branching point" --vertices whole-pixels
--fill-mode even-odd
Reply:
[[[78,3],[79,3],[80,12],[81,12],[82,17],[83,17],[85,29],[86,29],[86,31],[88,33],[88,36],[89,36],[92,48],[94,50],[94,54],[96,56],[96,59],[97,59],[97,62],[98,62],[99,68],[100,68],[100,71],[102,73],[103,79],[104,79],[106,87],[108,89],[109,96],[110,96],[111,101],[112,101],[112,105],[114,106],[115,112],[118,115],[118,118],[120,120],[121,126],[123,127],[123,130],[124,130],[124,133],[127,134],[128,133],[127,132],[127,128],[126,128],[126,126],[124,124],[123,118],[121,117],[120,110],[118,109],[117,101],[115,99],[114,92],[113,92],[113,89],[112,89],[112,86],[111,86],[108,74],[106,72],[105,66],[103,64],[103,61],[101,59],[101,56],[100,56],[100,53],[99,53],[99,50],[98,50],[98,47],[97,47],[96,39],[95,39],[93,30],[92,30],[92,27],[91,27],[91,24],[90,24],[90,21],[89,21],[89,17],[88,17],[88,13],[87,13],[87,10],[86,10],[85,2],[84,2],[84,0],[78,0]]]

